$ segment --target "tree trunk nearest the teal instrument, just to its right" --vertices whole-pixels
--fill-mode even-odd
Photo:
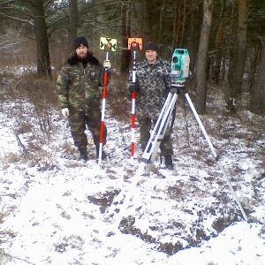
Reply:
[[[197,58],[197,108],[199,114],[206,113],[208,42],[213,16],[213,0],[203,1],[203,21]]]

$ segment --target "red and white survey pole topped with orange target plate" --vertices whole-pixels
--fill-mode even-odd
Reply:
[[[136,57],[138,49],[142,49],[142,39],[141,38],[129,38],[128,39],[128,49],[133,51],[133,71],[132,71],[132,83],[137,83],[136,77]],[[134,148],[135,148],[135,99],[136,92],[132,93],[132,111],[131,111],[131,120],[132,120],[132,135],[131,135],[131,155],[134,158]]]

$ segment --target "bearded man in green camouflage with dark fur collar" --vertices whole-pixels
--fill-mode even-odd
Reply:
[[[62,114],[68,117],[74,145],[79,148],[80,159],[87,160],[86,125],[92,133],[96,153],[99,153],[101,127],[101,94],[103,84],[102,64],[88,51],[87,39],[77,37],[75,51],[67,59],[58,78],[57,95]],[[107,129],[104,127],[103,144]],[[102,152],[102,159],[106,154]]]

